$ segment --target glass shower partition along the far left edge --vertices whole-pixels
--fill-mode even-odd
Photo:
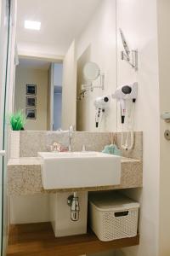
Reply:
[[[7,75],[10,0],[0,0],[0,252],[6,254],[8,234],[7,206]]]

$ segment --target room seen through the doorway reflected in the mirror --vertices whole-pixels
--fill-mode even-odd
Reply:
[[[27,113],[28,108],[32,108],[37,112],[36,119],[26,119],[25,130],[61,128],[62,67],[62,63],[44,60],[19,60],[15,72],[14,111],[22,109],[23,113]],[[36,84],[34,96],[27,93],[27,84]]]

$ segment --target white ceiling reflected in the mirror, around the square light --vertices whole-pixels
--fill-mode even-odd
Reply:
[[[102,0],[18,0],[17,44],[20,50],[65,55],[93,18]],[[24,28],[25,20],[41,21],[40,31]]]

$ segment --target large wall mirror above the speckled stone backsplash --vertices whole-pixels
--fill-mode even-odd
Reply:
[[[116,0],[18,0],[17,49],[25,130],[116,130]]]

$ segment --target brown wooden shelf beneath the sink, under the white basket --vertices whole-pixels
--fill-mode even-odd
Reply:
[[[10,226],[7,256],[79,256],[139,245],[139,235],[99,241],[91,230],[85,235],[54,237],[50,223]]]

